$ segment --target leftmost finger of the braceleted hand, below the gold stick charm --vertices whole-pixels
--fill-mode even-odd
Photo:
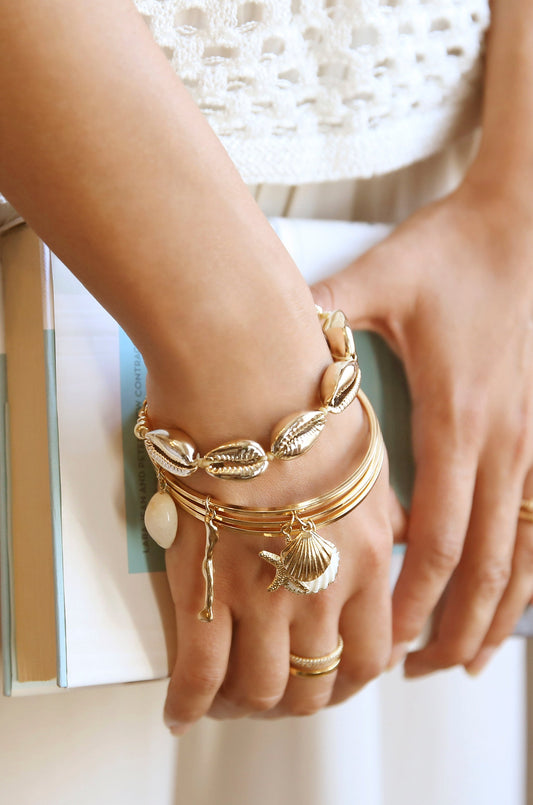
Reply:
[[[165,723],[182,735],[205,715],[224,681],[230,655],[232,618],[221,604],[211,623],[193,612],[176,611],[178,655],[165,702]]]

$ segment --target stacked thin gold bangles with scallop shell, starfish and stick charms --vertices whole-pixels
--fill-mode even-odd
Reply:
[[[317,533],[317,527],[329,525],[358,506],[376,483],[385,456],[385,446],[379,422],[368,398],[358,393],[368,418],[370,438],[362,462],[339,486],[330,492],[300,503],[281,508],[256,509],[223,503],[210,495],[202,495],[157,467],[159,491],[147,507],[173,506],[172,500],[206,528],[206,551],[203,572],[206,581],[205,607],[201,620],[213,619],[213,551],[220,526],[235,531],[260,533],[265,537],[284,537],[281,553],[261,551],[259,556],[273,565],[276,574],[269,590],[285,587],[295,593],[317,593],[326,589],[336,578],[339,552],[336,546]],[[159,498],[159,500],[158,500]],[[158,534],[146,525],[151,536],[159,542]],[[157,524],[155,531],[157,531]],[[161,543],[160,543],[161,544]]]

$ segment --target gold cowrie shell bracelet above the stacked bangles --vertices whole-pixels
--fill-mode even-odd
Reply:
[[[274,459],[287,461],[306,453],[322,433],[328,414],[340,414],[357,396],[361,370],[355,352],[353,333],[340,310],[333,313],[317,306],[322,332],[333,363],[322,376],[320,407],[284,417],[272,431],[270,449],[250,439],[220,445],[200,456],[192,439],[181,430],[151,429],[146,400],[135,435],[144,441],[152,463],[177,477],[187,477],[198,469],[214,478],[249,480],[266,470]]]

